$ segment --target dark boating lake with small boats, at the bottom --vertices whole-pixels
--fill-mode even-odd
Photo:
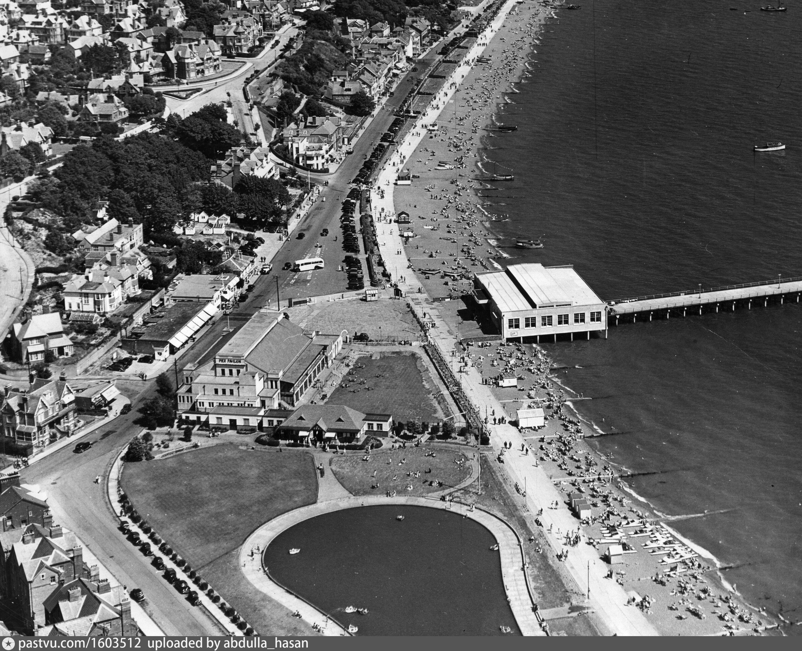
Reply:
[[[403,515],[403,521],[396,519]],[[493,535],[427,507],[334,511],[290,527],[265,550],[270,575],[358,635],[520,635]],[[290,549],[301,552],[290,555]],[[347,613],[353,605],[367,615]]]

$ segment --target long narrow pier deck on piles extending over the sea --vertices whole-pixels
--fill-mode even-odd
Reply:
[[[688,311],[701,315],[703,308],[715,307],[715,311],[721,310],[735,311],[735,305],[745,305],[751,310],[752,303],[763,307],[768,306],[768,300],[779,298],[780,303],[785,299],[800,302],[802,293],[802,276],[796,278],[776,280],[764,280],[759,283],[745,283],[743,285],[728,285],[727,287],[711,287],[703,289],[701,285],[696,291],[675,291],[672,294],[655,294],[651,296],[638,296],[634,299],[624,299],[607,302],[608,319],[618,319],[622,316],[632,315],[632,320],[637,321],[638,315],[649,315],[652,320],[654,313],[666,315],[670,319],[671,312],[676,315],[687,316]]]

